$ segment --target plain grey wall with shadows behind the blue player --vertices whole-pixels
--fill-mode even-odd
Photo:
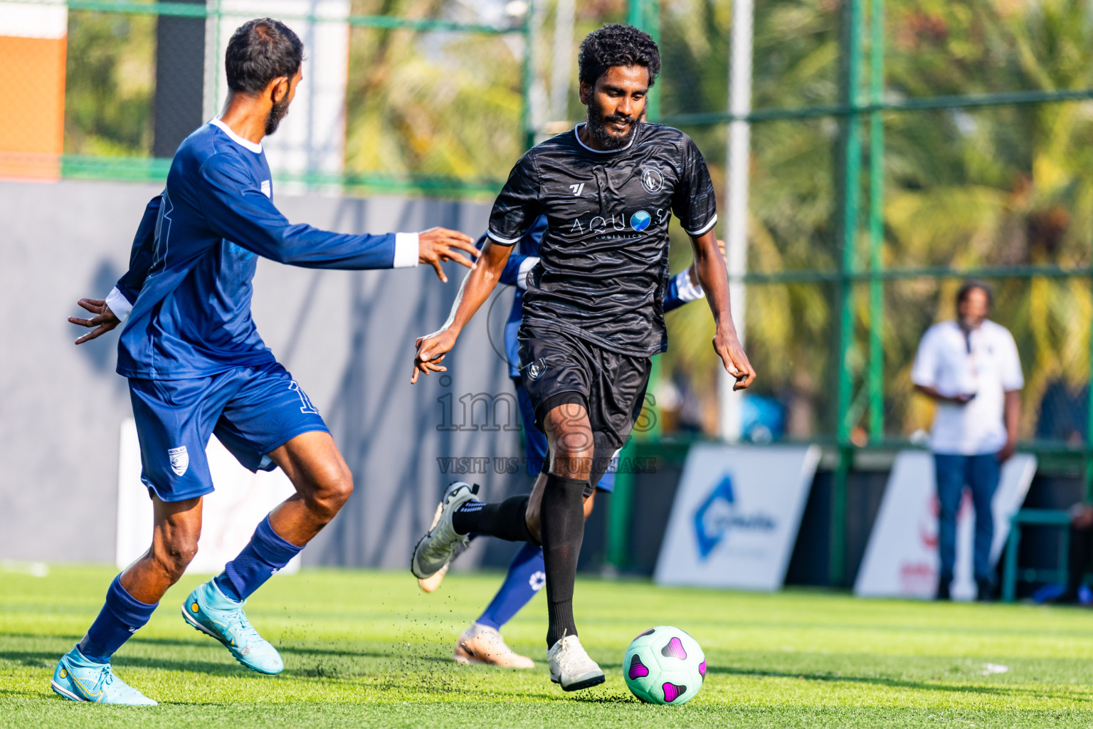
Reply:
[[[125,270],[132,233],[157,187],[114,183],[0,181],[0,291],[9,301],[0,339],[0,557],[114,558],[118,433],[131,415],[114,373],[116,332],[75,348],[66,318],[81,296],[101,297]],[[342,232],[444,225],[472,236],[487,207],[432,200],[279,195],[293,222]],[[458,398],[510,393],[501,332],[510,292],[497,294],[433,375],[411,387],[415,337],[447,315],[465,269],[442,284],[428,268],[307,271],[262,261],[254,315],[266,343],[324,413],[356,492],[305,551],[305,563],[406,567],[436,501],[455,477],[438,459],[519,456],[519,433],[484,431],[484,408],[463,422]],[[485,313],[483,313],[485,314]],[[495,348],[492,342],[497,343]],[[503,350],[502,350],[503,351]],[[450,393],[462,430],[445,430]],[[515,400],[513,401],[515,402]],[[500,424],[518,424],[500,407]],[[473,428],[473,430],[471,430]],[[459,477],[486,495],[526,486],[521,474]],[[486,542],[489,540],[479,540]],[[477,544],[473,566],[485,544]]]

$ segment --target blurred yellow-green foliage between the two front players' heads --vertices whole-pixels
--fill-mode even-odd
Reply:
[[[356,0],[359,14],[443,16],[436,0]],[[351,31],[346,172],[498,179],[522,153],[522,40]]]

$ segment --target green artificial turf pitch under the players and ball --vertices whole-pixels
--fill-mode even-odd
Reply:
[[[755,595],[580,580],[581,642],[604,685],[550,683],[538,598],[505,626],[530,671],[458,666],[456,636],[497,574],[449,575],[424,595],[409,573],[279,575],[247,612],[285,670],[238,666],[183,622],[186,577],[115,657],[153,708],[62,701],[54,666],[94,619],[114,575],[0,568],[0,727],[1085,727],[1093,726],[1093,612],[1001,604],[856,600],[789,590]],[[706,683],[689,704],[631,697],[623,651],[673,624],[703,646]],[[984,674],[986,665],[1006,672]]]

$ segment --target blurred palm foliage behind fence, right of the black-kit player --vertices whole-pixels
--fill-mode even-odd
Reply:
[[[683,14],[706,12],[709,21],[700,24],[705,37],[698,39],[677,32],[666,21],[666,44],[672,44],[666,56],[687,64],[692,79],[686,101],[673,102],[675,97],[666,91],[666,113],[724,108],[724,77],[713,77],[709,57],[703,52],[725,37],[727,21],[703,10],[704,3],[692,7],[689,0],[678,1],[689,9]],[[869,3],[863,4],[868,12]],[[841,8],[825,0],[756,4],[756,108],[839,99]],[[1093,86],[1091,17],[1089,0],[889,0],[885,97]],[[867,99],[865,89],[858,97]],[[884,114],[883,120],[885,267],[1090,264],[1093,104],[893,111]],[[868,157],[867,134],[868,124],[862,137]],[[724,137],[695,138],[719,179]],[[835,118],[752,127],[750,271],[838,271],[838,144]],[[867,175],[854,184],[860,184],[862,200],[856,249],[861,270],[869,260]],[[690,256],[680,252],[674,260],[682,266]],[[959,283],[922,277],[884,284],[885,307],[879,326],[884,349],[884,425],[890,436],[908,435],[929,423],[929,405],[912,395],[910,362],[925,329],[953,315],[951,299]],[[997,289],[994,318],[1018,339],[1027,379],[1022,433],[1032,437],[1048,387],[1061,383],[1077,397],[1089,380],[1090,281],[1001,280]],[[835,432],[836,293],[835,283],[748,287],[748,349],[760,373],[755,391],[776,396],[788,405],[791,436]],[[868,291],[857,286],[855,293],[856,340],[848,366],[860,389],[868,366]],[[709,352],[709,315],[703,307],[690,306],[672,315],[670,322],[672,344],[666,372],[682,373],[694,387],[712,391],[718,363]],[[860,419],[862,426],[867,422]]]

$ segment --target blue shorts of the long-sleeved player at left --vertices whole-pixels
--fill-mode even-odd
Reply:
[[[140,438],[141,481],[161,501],[212,493],[205,459],[215,435],[251,471],[272,471],[267,454],[301,433],[329,433],[319,411],[278,363],[197,379],[129,380]]]

